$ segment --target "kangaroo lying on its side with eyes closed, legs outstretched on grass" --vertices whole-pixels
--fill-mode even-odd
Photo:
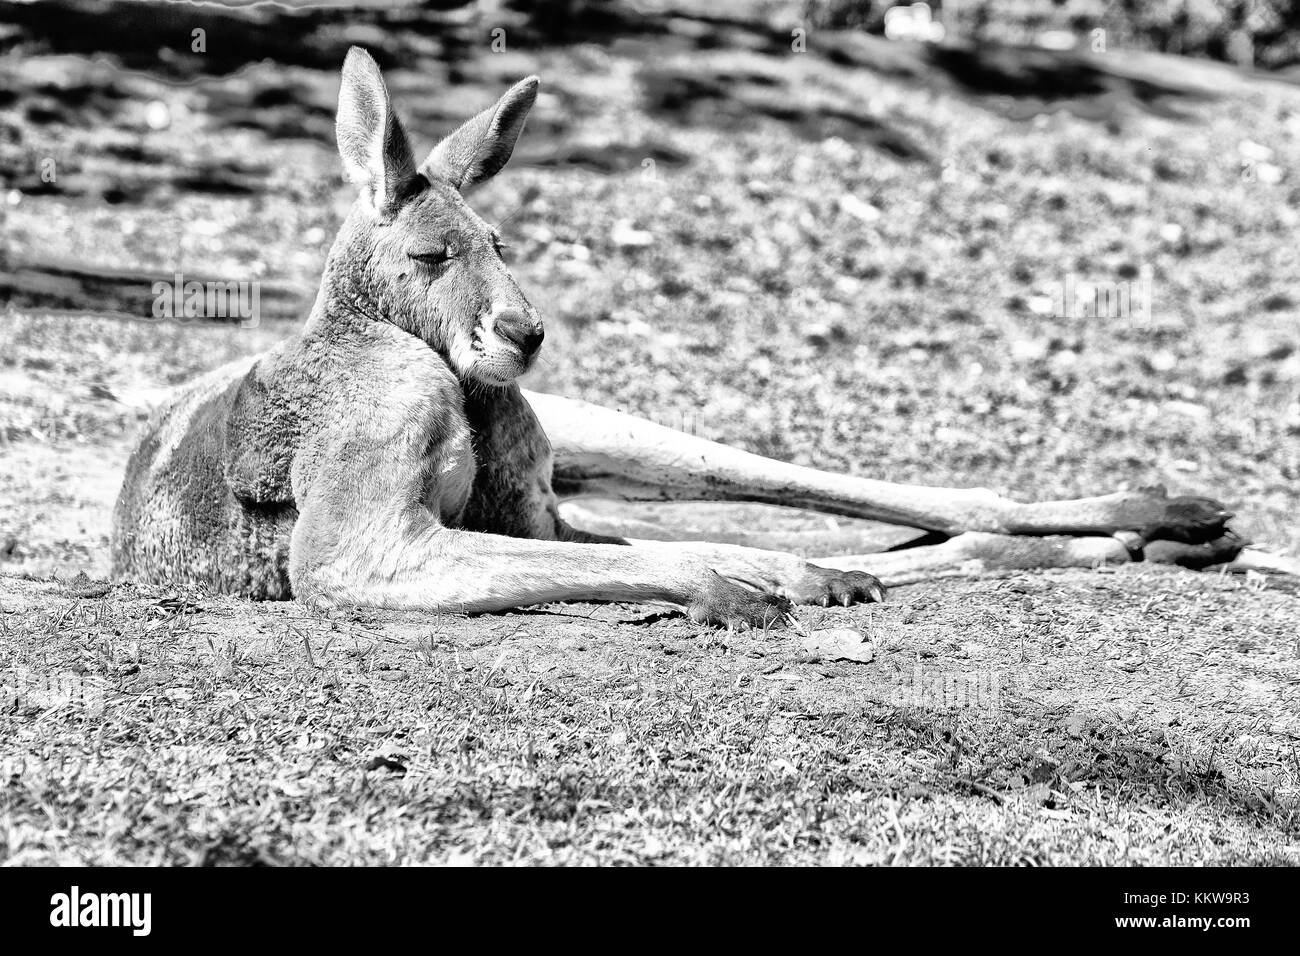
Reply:
[[[516,83],[417,165],[377,65],[348,52],[335,133],[358,196],[316,302],[296,334],[151,418],[114,509],[117,579],[428,611],[664,602],[701,623],[767,627],[793,604],[881,601],[881,579],[1144,554],[1208,564],[1242,550],[1231,515],[1205,498],[1027,505],[893,485],[520,389],[543,323],[463,194],[506,165],[537,87]],[[578,494],[766,501],[942,544],[809,562],[628,540],[567,524],[559,499]]]

